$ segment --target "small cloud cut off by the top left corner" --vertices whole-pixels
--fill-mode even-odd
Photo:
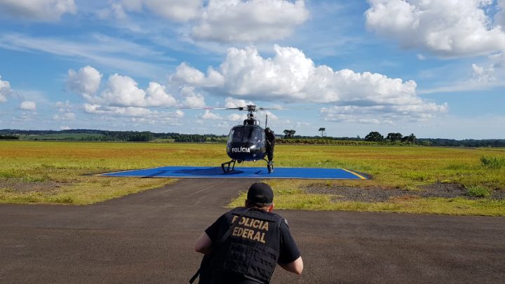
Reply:
[[[10,18],[54,22],[76,12],[74,0],[0,0],[0,14]]]

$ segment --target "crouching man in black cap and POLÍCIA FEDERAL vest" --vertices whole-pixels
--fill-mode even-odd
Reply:
[[[269,283],[276,263],[301,274],[303,261],[288,222],[273,213],[274,192],[268,184],[253,184],[244,208],[217,219],[196,241],[205,254],[200,283]]]

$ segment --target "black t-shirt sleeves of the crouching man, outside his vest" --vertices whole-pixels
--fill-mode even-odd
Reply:
[[[231,220],[227,220],[226,214],[223,214],[214,224],[210,225],[205,232],[213,243],[217,243],[217,241],[226,234],[230,224]],[[279,248],[280,255],[277,261],[279,264],[288,264],[300,257],[298,246],[292,238],[289,226],[286,222],[281,223],[281,244]]]

